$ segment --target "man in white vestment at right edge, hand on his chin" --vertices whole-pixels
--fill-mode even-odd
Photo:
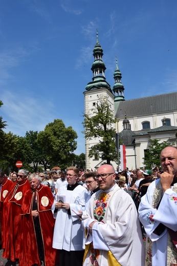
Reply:
[[[177,148],[161,151],[161,178],[141,198],[139,218],[146,231],[147,266],[177,265]]]

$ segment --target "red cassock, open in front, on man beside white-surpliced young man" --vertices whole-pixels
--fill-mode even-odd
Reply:
[[[36,204],[39,217],[39,225],[42,235],[44,258],[46,266],[54,266],[56,249],[52,248],[55,219],[51,211],[54,198],[51,189],[41,184],[36,189]],[[20,242],[20,266],[40,265],[32,206],[34,191],[30,189],[25,193],[21,207],[21,242]]]

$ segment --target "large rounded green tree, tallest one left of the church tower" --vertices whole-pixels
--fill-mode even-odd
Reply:
[[[71,126],[65,127],[60,119],[49,123],[45,130],[38,134],[37,142],[50,167],[59,166],[62,169],[72,164],[74,150],[77,148],[77,133]]]

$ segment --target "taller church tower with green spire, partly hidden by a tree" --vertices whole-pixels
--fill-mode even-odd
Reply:
[[[110,108],[114,110],[114,94],[112,88],[108,84],[105,78],[105,64],[102,60],[103,49],[101,48],[98,40],[98,31],[97,31],[97,39],[96,45],[93,50],[94,62],[92,64],[92,73],[93,78],[92,81],[89,82],[85,87],[84,94],[84,109],[85,114],[92,114],[92,110],[94,106],[97,105],[99,101],[99,97],[107,97]],[[99,142],[98,138],[92,138],[91,140],[85,139],[85,163],[86,169],[97,169],[101,163],[100,158],[97,156],[93,158],[89,158],[89,148]]]

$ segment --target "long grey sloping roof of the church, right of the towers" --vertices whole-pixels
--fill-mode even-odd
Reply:
[[[177,110],[177,92],[119,102],[116,117],[123,118]]]

